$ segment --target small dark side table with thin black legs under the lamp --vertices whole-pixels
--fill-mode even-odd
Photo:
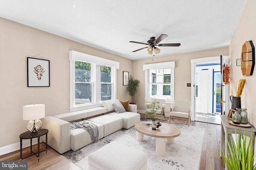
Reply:
[[[39,162],[39,152],[43,152],[46,150],[46,153],[47,153],[47,133],[48,133],[48,129],[39,129],[38,133],[30,133],[29,131],[22,133],[20,135],[20,160],[24,159],[24,158],[22,158],[22,139],[30,139],[30,155],[29,156],[32,156],[32,155],[36,155],[36,153],[34,153],[32,151],[32,139],[37,138],[38,139],[38,141],[37,141],[37,147],[38,147],[37,149],[38,150],[37,150],[36,157],[38,157],[38,162]],[[46,149],[40,151],[40,148],[39,148],[40,137],[44,136],[44,135],[46,135]],[[27,156],[27,157],[29,157],[29,156]],[[25,158],[27,158],[27,157],[25,157]]]

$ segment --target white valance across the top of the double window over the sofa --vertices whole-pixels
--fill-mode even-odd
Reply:
[[[69,60],[75,60],[75,61],[84,61],[87,63],[95,63],[96,65],[104,65],[104,66],[110,66],[110,67],[116,67],[119,69],[119,63],[116,61],[103,59],[100,57],[96,57],[93,55],[88,55],[85,53],[80,53],[78,51],[69,51]]]

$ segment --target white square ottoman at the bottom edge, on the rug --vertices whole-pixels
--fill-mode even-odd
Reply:
[[[89,170],[147,170],[148,154],[118,142],[92,152],[88,156]]]

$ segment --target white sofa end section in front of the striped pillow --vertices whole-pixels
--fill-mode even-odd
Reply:
[[[133,112],[123,112],[123,113],[109,113],[108,115],[122,117],[123,118],[123,128],[129,129],[134,126],[136,123],[140,122],[140,113]]]

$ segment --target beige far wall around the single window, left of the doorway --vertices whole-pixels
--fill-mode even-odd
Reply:
[[[168,48],[168,47],[166,47]],[[228,47],[210,49],[204,51],[196,51],[190,53],[182,53],[177,55],[169,55],[165,57],[154,57],[148,59],[140,59],[133,61],[134,78],[140,80],[140,88],[138,94],[134,96],[134,102],[138,103],[138,109],[144,110],[145,103],[145,72],[143,71],[143,64],[162,63],[168,61],[175,61],[175,92],[174,98],[176,100],[191,100],[191,88],[187,87],[187,83],[191,83],[191,59],[198,59],[204,57],[215,57],[220,55],[228,55]],[[166,107],[166,111],[170,110]],[[170,108],[170,107],[169,107]]]

